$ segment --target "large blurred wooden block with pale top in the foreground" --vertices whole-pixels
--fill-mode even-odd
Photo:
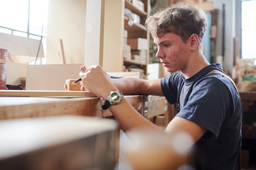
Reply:
[[[66,115],[0,122],[2,170],[115,169],[114,120]]]

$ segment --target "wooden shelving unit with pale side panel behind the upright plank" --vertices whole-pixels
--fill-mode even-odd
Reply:
[[[124,30],[128,32],[127,38],[144,38],[148,40],[149,34],[144,26],[145,19],[149,15],[149,0],[141,0],[144,4],[144,11],[140,10],[129,0],[106,1],[104,20],[104,49],[103,69],[108,72],[125,71],[125,67],[136,66],[147,74],[149,48],[147,50],[147,62],[141,64],[134,60],[123,59],[123,35]],[[124,16],[124,9],[127,8],[140,16],[140,24],[128,25],[129,18]],[[111,64],[110,64],[111,63]],[[124,67],[125,66],[125,67]]]

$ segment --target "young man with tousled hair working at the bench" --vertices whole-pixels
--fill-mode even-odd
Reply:
[[[212,70],[202,53],[202,39],[207,26],[204,11],[192,5],[175,4],[158,11],[146,20],[146,26],[158,48],[156,57],[170,77],[156,80],[135,78],[111,79],[100,66],[81,67],[81,90],[84,88],[105,102],[124,131],[150,129],[162,131],[141,116],[122,95],[109,93],[165,96],[178,103],[178,114],[165,129],[167,136],[188,133],[194,140],[195,169],[237,169],[241,148],[242,105],[231,81]]]

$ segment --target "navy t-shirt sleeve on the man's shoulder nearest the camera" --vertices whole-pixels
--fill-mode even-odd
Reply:
[[[227,87],[218,78],[204,78],[196,85],[188,102],[177,114],[204,128],[204,138],[216,139],[228,113],[230,98]]]

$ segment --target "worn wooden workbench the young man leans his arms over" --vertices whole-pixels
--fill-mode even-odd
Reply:
[[[124,96],[144,117],[164,114],[167,101],[159,96]],[[104,101],[98,97],[0,97],[0,120],[53,115],[84,115],[109,117],[102,110]]]

